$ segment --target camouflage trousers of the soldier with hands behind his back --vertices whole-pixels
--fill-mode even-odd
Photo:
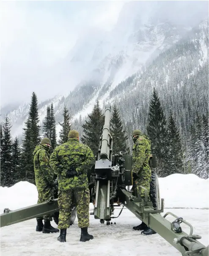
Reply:
[[[58,228],[68,228],[70,225],[71,205],[73,199],[76,200],[77,217],[79,228],[89,226],[89,189],[69,189],[60,191],[58,196],[58,206],[60,210]]]

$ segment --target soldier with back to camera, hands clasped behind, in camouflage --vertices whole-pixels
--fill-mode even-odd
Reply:
[[[66,143],[55,148],[50,157],[50,166],[58,175],[58,241],[66,242],[66,229],[69,227],[72,200],[75,198],[78,226],[81,228],[80,241],[85,242],[93,239],[88,234],[90,193],[87,174],[94,164],[94,156],[87,145],[79,143],[77,131],[70,131],[68,138]]]

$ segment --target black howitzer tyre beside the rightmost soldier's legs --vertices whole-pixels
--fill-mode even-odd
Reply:
[[[161,208],[161,199],[159,194],[159,182],[157,173],[155,171],[151,172],[151,182],[150,182],[150,199],[154,209],[159,210]]]

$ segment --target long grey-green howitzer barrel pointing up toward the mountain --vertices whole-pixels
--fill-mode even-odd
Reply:
[[[100,150],[100,159],[110,160],[110,105],[105,107],[105,120],[102,130],[102,144]]]

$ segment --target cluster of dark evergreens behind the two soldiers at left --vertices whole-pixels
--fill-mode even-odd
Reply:
[[[69,111],[65,108],[63,112],[63,123],[60,123],[60,140],[57,142],[56,122],[53,104],[47,106],[47,114],[43,122],[42,132],[38,118],[38,100],[33,92],[25,127],[23,128],[22,145],[19,145],[19,139],[14,141],[11,138],[11,122],[8,116],[1,124],[1,180],[0,186],[12,186],[19,181],[29,181],[35,184],[35,174],[33,168],[33,151],[41,138],[47,137],[52,142],[52,150],[57,145],[66,142],[71,124]]]

